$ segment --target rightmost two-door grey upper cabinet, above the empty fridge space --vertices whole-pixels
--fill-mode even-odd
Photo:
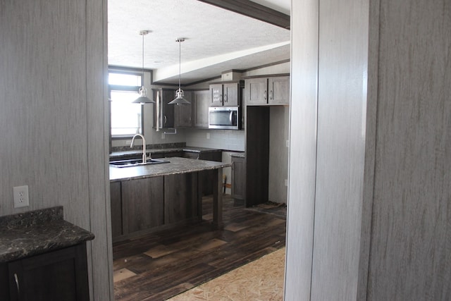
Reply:
[[[290,75],[246,78],[245,102],[247,106],[290,104]]]

